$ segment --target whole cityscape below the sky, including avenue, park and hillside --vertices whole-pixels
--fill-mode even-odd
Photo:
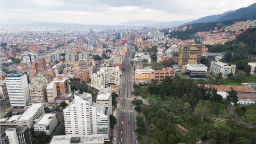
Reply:
[[[256,144],[249,13],[176,27],[1,27],[1,144]]]

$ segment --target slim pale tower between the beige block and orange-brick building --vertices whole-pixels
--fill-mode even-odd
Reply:
[[[51,82],[46,87],[48,105],[54,105],[54,99],[57,97],[57,86],[54,82]]]

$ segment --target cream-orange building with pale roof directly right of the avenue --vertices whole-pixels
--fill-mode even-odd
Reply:
[[[148,67],[143,69],[135,69],[135,81],[137,82],[148,82],[151,80],[151,73],[154,69]]]

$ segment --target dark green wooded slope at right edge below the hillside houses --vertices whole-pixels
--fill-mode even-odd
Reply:
[[[208,52],[227,53],[227,62],[237,65],[237,69],[245,69],[248,62],[256,61],[256,27],[249,28],[238,35],[235,40],[224,45],[206,45]]]

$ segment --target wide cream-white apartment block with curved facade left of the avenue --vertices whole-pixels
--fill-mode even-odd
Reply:
[[[101,67],[97,73],[91,75],[91,86],[100,90],[107,85],[120,84],[121,70],[116,67]]]

